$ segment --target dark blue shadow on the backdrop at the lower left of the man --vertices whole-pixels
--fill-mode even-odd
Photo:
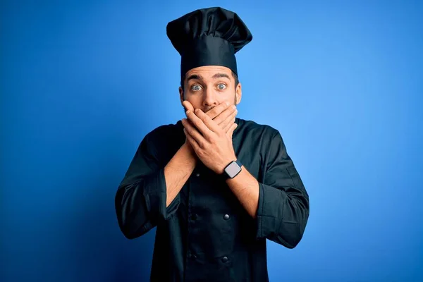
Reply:
[[[104,178],[97,183],[112,183]],[[95,187],[93,182],[87,188]],[[149,281],[155,228],[136,240],[128,240],[118,230],[111,202],[116,187],[97,188],[68,222],[66,263],[75,267],[70,281]],[[103,189],[103,192],[102,192]]]

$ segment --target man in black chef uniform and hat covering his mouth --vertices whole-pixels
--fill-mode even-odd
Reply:
[[[121,231],[132,239],[157,226],[151,281],[269,281],[266,239],[295,247],[309,200],[278,130],[235,117],[235,53],[250,30],[205,8],[167,35],[187,118],[142,140],[116,193]]]

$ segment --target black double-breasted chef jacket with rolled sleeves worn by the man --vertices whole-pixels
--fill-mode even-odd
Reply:
[[[235,155],[259,182],[256,219],[201,161],[166,208],[164,166],[185,142],[180,121],[140,143],[116,192],[116,214],[126,238],[157,226],[151,281],[269,281],[266,239],[288,248],[300,242],[309,198],[280,133],[235,123]]]

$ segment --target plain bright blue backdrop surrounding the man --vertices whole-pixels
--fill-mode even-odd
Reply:
[[[168,21],[236,11],[240,118],[280,130],[309,192],[271,281],[423,281],[422,1],[1,1],[1,281],[148,281],[114,195],[183,118]]]

